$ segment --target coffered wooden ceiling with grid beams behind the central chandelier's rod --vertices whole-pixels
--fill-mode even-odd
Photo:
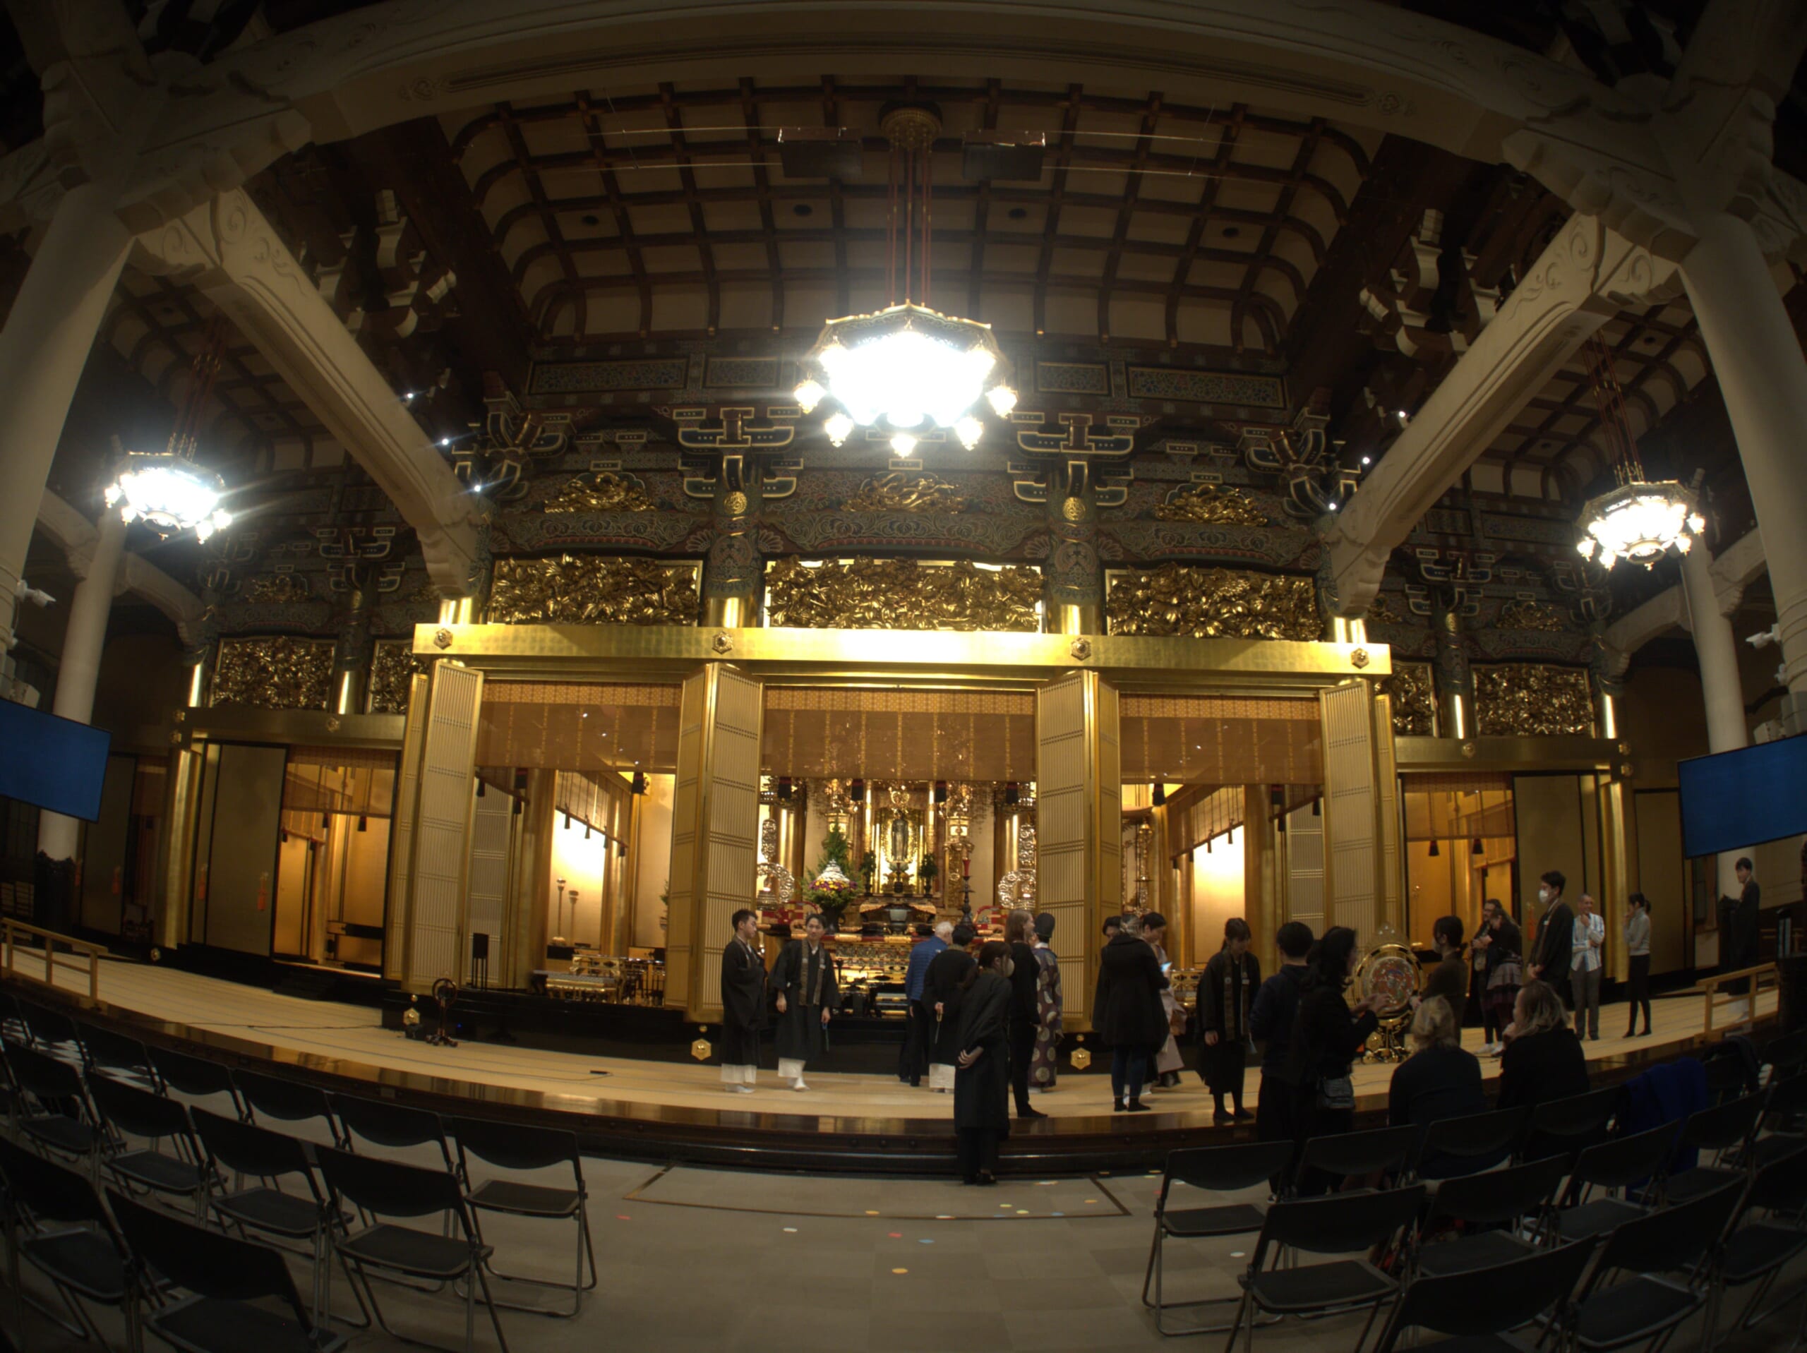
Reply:
[[[1278,356],[1379,137],[1073,83],[575,90],[445,119],[540,343],[810,334],[885,303],[887,105],[932,105],[929,303],[1005,334]],[[853,128],[855,179],[781,128]],[[963,175],[967,132],[1046,135],[1039,179]]]

